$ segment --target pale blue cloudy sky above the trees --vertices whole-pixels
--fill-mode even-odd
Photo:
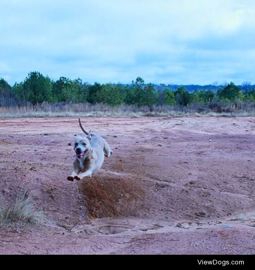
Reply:
[[[254,0],[1,0],[0,77],[255,84]]]

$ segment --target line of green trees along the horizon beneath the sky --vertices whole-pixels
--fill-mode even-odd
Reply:
[[[21,105],[25,103],[40,104],[42,102],[66,102],[91,104],[101,103],[111,106],[135,104],[138,106],[208,105],[212,102],[238,103],[255,102],[255,89],[242,91],[234,83],[212,90],[201,90],[190,93],[185,87],[171,91],[156,91],[152,84],[145,84],[143,78],[137,77],[130,85],[84,83],[82,79],[60,77],[54,81],[38,71],[33,71],[21,83],[10,86],[0,78],[0,105]]]

